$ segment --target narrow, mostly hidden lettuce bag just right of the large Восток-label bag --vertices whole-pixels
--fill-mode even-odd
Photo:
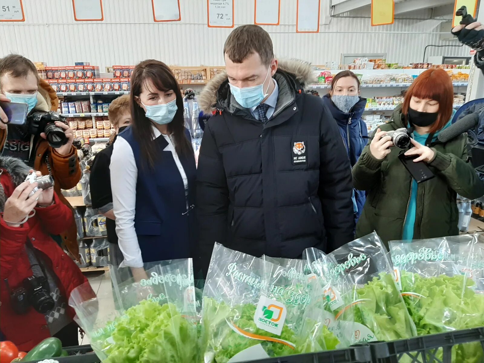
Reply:
[[[353,285],[347,275],[335,272],[336,259],[316,248],[307,248],[303,257],[307,259],[311,272],[309,281],[314,291],[312,303],[322,310],[321,321],[341,342],[338,348],[363,341],[361,324],[354,323]]]

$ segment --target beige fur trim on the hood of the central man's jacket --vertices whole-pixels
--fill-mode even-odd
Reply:
[[[305,61],[295,59],[280,60],[274,77],[278,74],[284,74],[285,76],[292,78],[293,81],[297,82],[302,88],[308,84],[316,82],[316,76],[311,63]],[[218,101],[220,101],[219,98],[221,93],[223,93],[221,91],[223,91],[223,88],[227,88],[227,83],[227,73],[220,73],[207,83],[207,86],[205,86],[198,96],[198,106],[206,115],[211,115],[212,111],[220,106],[218,105]]]

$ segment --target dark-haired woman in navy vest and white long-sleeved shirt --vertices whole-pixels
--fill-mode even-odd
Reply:
[[[132,267],[139,279],[145,262],[193,257],[197,231],[195,157],[180,87],[165,63],[136,65],[131,116],[109,169],[120,266]]]

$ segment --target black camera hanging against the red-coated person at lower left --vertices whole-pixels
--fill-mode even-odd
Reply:
[[[12,308],[17,314],[26,314],[32,306],[37,312],[46,314],[55,306],[50,296],[50,288],[45,276],[30,276],[24,279],[23,286],[10,293]]]

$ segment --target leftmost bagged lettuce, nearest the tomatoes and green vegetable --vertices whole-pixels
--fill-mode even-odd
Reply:
[[[197,361],[191,258],[146,263],[144,272],[135,281],[130,268],[111,267],[110,291],[86,298],[84,284],[72,292],[69,304],[93,350],[108,363]]]

